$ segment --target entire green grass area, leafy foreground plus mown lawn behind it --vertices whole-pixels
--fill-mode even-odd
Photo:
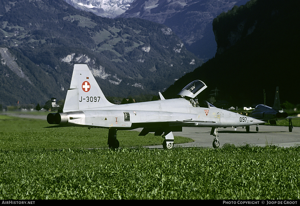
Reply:
[[[47,126],[0,115],[0,199],[300,198],[300,147],[147,149],[162,138],[118,131],[113,151],[107,130]]]

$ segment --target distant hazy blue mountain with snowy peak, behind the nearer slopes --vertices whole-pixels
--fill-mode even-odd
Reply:
[[[214,57],[217,43],[212,21],[248,0],[65,0],[74,7],[111,18],[141,18],[164,24],[203,61]],[[85,5],[85,6],[83,6]],[[130,5],[130,6],[129,6]],[[104,11],[105,10],[105,11]],[[118,15],[116,15],[119,13]]]

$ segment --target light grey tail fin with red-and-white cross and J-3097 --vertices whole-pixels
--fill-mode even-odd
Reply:
[[[86,64],[75,64],[70,89],[64,102],[64,112],[114,105],[101,91]]]

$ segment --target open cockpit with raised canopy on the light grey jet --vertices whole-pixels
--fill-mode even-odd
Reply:
[[[200,80],[192,81],[190,84],[185,86],[177,95],[181,96],[184,99],[187,99],[193,107],[215,107],[207,101],[198,102],[197,95],[205,90],[207,86]]]

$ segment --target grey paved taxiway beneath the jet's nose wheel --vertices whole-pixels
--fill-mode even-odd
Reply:
[[[183,127],[182,132],[173,132],[174,136],[189,137],[194,140],[191,143],[175,144],[174,147],[209,147],[212,148],[214,137],[210,135],[211,128]],[[218,140],[220,147],[224,144],[241,146],[250,144],[255,146],[275,145],[292,147],[300,145],[300,127],[294,127],[292,132],[285,126],[259,125],[259,131],[255,125],[250,126],[250,133],[245,128],[218,128]],[[162,148],[162,145],[148,146],[149,148]]]

